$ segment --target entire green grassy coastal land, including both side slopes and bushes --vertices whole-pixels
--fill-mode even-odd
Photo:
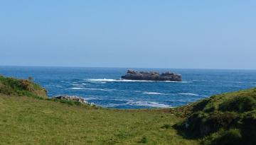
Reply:
[[[256,88],[116,110],[48,98],[31,80],[0,76],[0,144],[256,144]]]

